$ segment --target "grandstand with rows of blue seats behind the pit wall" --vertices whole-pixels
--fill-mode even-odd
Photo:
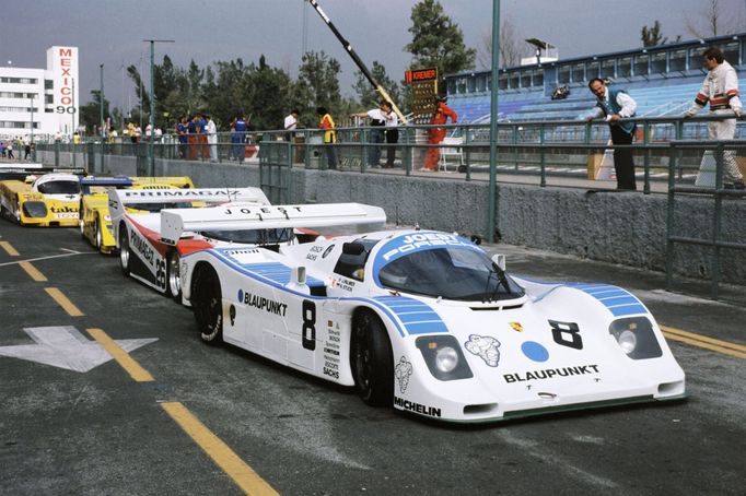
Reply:
[[[558,60],[500,70],[498,118],[508,122],[576,120],[591,114],[595,99],[587,90],[593,78],[608,78],[638,103],[640,117],[679,116],[693,101],[707,71],[702,51],[718,45],[738,71],[746,91],[746,33]],[[465,123],[490,120],[491,71],[445,78],[448,105]],[[570,94],[551,99],[559,86]]]

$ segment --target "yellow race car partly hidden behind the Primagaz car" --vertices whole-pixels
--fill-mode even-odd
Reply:
[[[84,177],[80,186],[80,234],[102,253],[110,253],[116,248],[108,190],[194,188],[188,177]]]

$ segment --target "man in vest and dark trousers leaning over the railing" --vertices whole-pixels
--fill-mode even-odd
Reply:
[[[588,116],[591,121],[604,116],[611,131],[611,143],[615,145],[630,145],[634,139],[634,122],[621,121],[634,116],[637,103],[622,90],[609,90],[604,81],[594,78],[588,83],[588,88],[596,96],[596,113]],[[636,190],[634,162],[630,149],[614,150],[614,169],[617,174],[617,189]]]

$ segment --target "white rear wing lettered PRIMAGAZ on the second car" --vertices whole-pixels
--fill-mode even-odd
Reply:
[[[226,203],[242,201],[255,204],[269,204],[259,188],[196,188],[196,189],[113,189],[108,192],[108,208],[112,219],[125,214],[125,208],[145,203]]]

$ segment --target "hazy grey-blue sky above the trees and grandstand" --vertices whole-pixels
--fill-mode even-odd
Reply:
[[[440,0],[464,32],[467,46],[481,47],[490,33],[498,0]],[[90,102],[100,87],[116,107],[137,105],[124,68],[142,64],[150,81],[149,44],[155,60],[168,55],[176,66],[190,60],[205,67],[242,58],[267,63],[295,76],[303,47],[324,50],[341,64],[340,86],[353,95],[355,66],[319,15],[304,0],[2,0],[0,63],[45,68],[54,45],[79,47],[80,95]],[[382,63],[399,81],[411,55],[411,9],[417,0],[318,0],[323,10],[369,68]],[[640,29],[657,20],[664,36],[693,39],[688,23],[704,27],[710,0],[501,0],[500,15],[510,19],[522,38],[539,38],[558,47],[563,58],[598,55],[641,46]],[[724,22],[746,32],[746,0],[719,0]],[[304,13],[305,12],[305,13]],[[304,44],[304,24],[305,44]],[[481,69],[477,67],[477,69]]]

